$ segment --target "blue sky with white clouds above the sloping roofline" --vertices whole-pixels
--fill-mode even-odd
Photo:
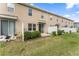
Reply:
[[[79,22],[79,3],[32,3],[31,5]]]

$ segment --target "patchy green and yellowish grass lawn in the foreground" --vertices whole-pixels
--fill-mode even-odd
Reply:
[[[77,56],[79,55],[79,34],[64,34],[27,42],[0,42],[0,55]]]

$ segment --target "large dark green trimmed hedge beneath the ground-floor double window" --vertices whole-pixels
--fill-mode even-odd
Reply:
[[[40,37],[41,33],[38,31],[34,31],[34,32],[25,32],[24,33],[24,40],[28,40],[28,39],[34,39],[37,37]]]

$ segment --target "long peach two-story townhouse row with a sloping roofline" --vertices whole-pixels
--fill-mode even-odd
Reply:
[[[0,35],[14,35],[22,31],[48,33],[48,28],[73,27],[74,21],[24,3],[0,3]]]

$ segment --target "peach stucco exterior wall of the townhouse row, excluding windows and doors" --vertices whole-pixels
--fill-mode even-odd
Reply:
[[[28,30],[28,23],[34,23],[36,24],[36,30],[38,30],[38,22],[41,21],[41,15],[44,15],[43,21],[45,22],[45,28],[44,32],[48,32],[48,27],[55,26],[55,24],[60,24],[60,27],[68,25],[69,27],[73,25],[73,22],[67,19],[64,19],[62,17],[58,17],[55,15],[51,15],[36,9],[32,8],[32,16],[28,15],[28,8],[26,6],[15,4],[15,12],[12,14],[9,14],[7,11],[7,4],[0,3],[0,14],[9,14],[18,16],[18,19],[16,21],[16,32],[19,33],[22,31],[22,22],[24,23],[25,30]],[[52,20],[50,20],[50,17],[52,17]],[[57,22],[58,19],[58,22]],[[63,22],[62,22],[63,20]]]

